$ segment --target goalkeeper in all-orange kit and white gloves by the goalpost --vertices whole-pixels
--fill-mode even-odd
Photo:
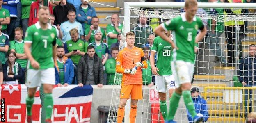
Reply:
[[[137,103],[138,100],[143,99],[141,68],[147,68],[148,66],[143,50],[134,46],[135,35],[133,32],[126,33],[126,42],[127,47],[118,53],[116,63],[117,73],[123,73],[117,123],[122,123],[123,121],[124,107],[130,96],[130,123],[135,123]]]

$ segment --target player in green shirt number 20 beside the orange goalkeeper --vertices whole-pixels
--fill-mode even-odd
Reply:
[[[165,35],[173,41],[173,36],[169,31],[165,31]],[[157,53],[156,67],[155,54]],[[169,92],[171,97],[175,89],[175,79],[171,72],[171,44],[160,36],[155,37],[153,46],[151,47],[150,62],[152,72],[155,75],[155,88],[159,94],[159,104],[162,116],[167,118],[166,93]]]

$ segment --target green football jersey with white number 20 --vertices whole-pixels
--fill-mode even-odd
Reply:
[[[173,38],[171,38],[173,40]],[[172,75],[171,44],[160,36],[155,37],[151,51],[157,52],[156,67],[159,75]]]

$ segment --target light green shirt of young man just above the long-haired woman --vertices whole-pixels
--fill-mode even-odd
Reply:
[[[14,49],[16,53],[24,54],[24,41],[21,42],[15,40],[10,42],[10,49]],[[16,62],[21,65],[21,68],[27,67],[27,59],[18,59],[16,58]]]

